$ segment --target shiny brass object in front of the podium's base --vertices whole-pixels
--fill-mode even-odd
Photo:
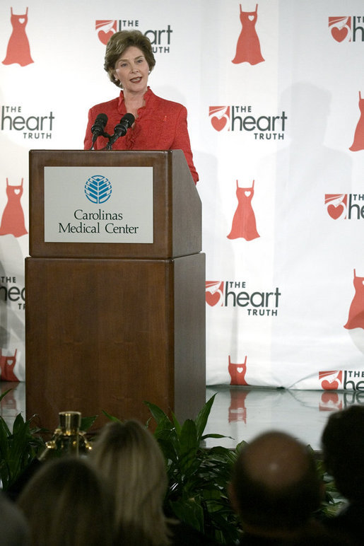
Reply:
[[[39,457],[40,461],[48,458],[74,455],[86,455],[92,449],[86,438],[86,433],[80,430],[80,412],[59,412],[59,426],[54,430],[52,440],[46,442],[45,451]]]

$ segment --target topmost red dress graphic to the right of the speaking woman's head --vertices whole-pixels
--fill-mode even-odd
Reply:
[[[249,62],[249,64],[258,64],[263,62],[262,52],[260,51],[259,37],[255,30],[255,23],[258,18],[258,4],[255,11],[242,11],[240,4],[240,22],[242,30],[237,40],[236,53],[233,63]]]

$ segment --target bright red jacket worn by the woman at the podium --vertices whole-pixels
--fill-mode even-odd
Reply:
[[[146,105],[139,108],[134,127],[128,129],[125,136],[121,136],[112,145],[113,150],[182,150],[187,160],[192,178],[196,183],[199,175],[194,168],[191,144],[187,129],[187,110],[182,104],[154,95],[150,88],[144,95]],[[124,103],[124,93],[119,97],[100,103],[88,111],[88,125],[84,141],[84,148],[89,150],[92,145],[91,127],[98,114],[107,115],[105,132],[114,133],[114,127],[127,113]],[[101,150],[107,145],[107,139],[99,136],[94,144],[95,150]]]

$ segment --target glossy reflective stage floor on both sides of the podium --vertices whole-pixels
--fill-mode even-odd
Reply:
[[[12,389],[1,400],[0,414],[12,427],[16,415],[25,419],[25,383],[0,382],[0,392]],[[292,434],[320,451],[320,438],[329,413],[353,404],[363,404],[360,391],[286,390],[281,388],[229,387],[206,388],[206,400],[216,395],[206,434],[206,446],[235,448],[242,440],[251,441],[261,432],[276,429]]]

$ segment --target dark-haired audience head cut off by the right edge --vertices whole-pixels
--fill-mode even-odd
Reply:
[[[348,501],[363,502],[364,406],[332,413],[322,434],[327,472]]]

